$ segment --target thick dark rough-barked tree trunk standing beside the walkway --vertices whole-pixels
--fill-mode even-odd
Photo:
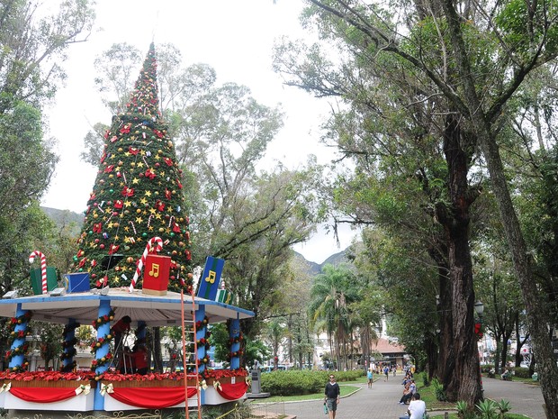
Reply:
[[[446,368],[444,382],[449,401],[475,405],[482,399],[479,350],[474,335],[473,262],[469,245],[469,210],[476,194],[468,186],[468,149],[475,138],[464,132],[455,114],[446,117],[444,153],[449,173],[451,207],[437,205],[437,219],[444,226],[448,243],[451,281],[451,313],[455,368]]]

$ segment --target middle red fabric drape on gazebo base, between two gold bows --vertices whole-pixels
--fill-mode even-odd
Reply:
[[[195,387],[188,387],[188,398],[196,392]],[[121,387],[107,393],[121,403],[145,407],[146,409],[162,409],[184,402],[184,387]]]

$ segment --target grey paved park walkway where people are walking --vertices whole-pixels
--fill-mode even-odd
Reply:
[[[511,412],[526,414],[533,419],[545,419],[543,396],[538,386],[519,382],[500,381],[483,378],[485,396],[500,401],[505,398],[511,403]],[[351,396],[341,399],[336,419],[397,419],[407,411],[406,406],[398,405],[402,394],[401,376],[383,378],[374,382],[369,389],[366,384]],[[428,406],[427,406],[428,407]],[[285,414],[298,419],[327,419],[322,400],[285,403]]]

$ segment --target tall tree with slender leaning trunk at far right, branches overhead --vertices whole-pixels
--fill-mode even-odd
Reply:
[[[347,33],[359,33],[365,37],[371,50],[402,59],[414,68],[415,74],[428,77],[438,88],[437,95],[446,97],[447,110],[462,114],[469,124],[491,176],[491,186],[527,306],[529,328],[544,371],[545,378],[541,383],[545,402],[551,417],[556,417],[558,366],[547,333],[551,318],[545,306],[539,304],[537,290],[531,287],[533,273],[529,252],[511,200],[499,150],[500,126],[506,123],[507,116],[502,111],[509,104],[510,97],[534,68],[556,57],[554,5],[510,1],[494,5],[493,10],[482,9],[478,4],[455,4],[446,0],[428,5],[403,5],[404,13],[397,16],[401,16],[404,23],[417,29],[427,21],[435,25],[440,35],[434,48],[442,51],[445,66],[439,68],[439,62],[422,57],[424,49],[412,52],[406,48],[407,33],[397,31],[395,16],[386,10],[368,7],[359,0],[310,1],[319,8],[319,19],[347,23]],[[493,36],[494,33],[497,36]],[[446,66],[454,68],[456,78],[446,78]],[[468,300],[465,308],[471,313],[473,301]],[[471,315],[468,314],[467,318]]]

